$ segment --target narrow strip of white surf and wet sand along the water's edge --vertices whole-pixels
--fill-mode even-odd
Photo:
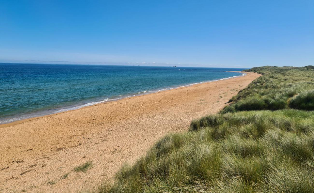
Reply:
[[[209,80],[209,81],[199,82],[199,83],[191,83],[191,84],[187,84],[187,85],[184,85],[184,86],[177,86],[177,87],[174,87],[174,88],[163,88],[163,89],[157,89],[157,90],[153,90],[153,91],[144,91],[144,93],[141,93],[141,94],[135,94],[135,95],[132,95],[132,96],[126,96],[126,97],[122,97],[122,98],[118,98],[118,99],[112,99],[112,100],[107,100],[107,101],[89,102],[89,103],[95,103],[95,104],[88,105],[89,103],[86,103],[86,104],[84,104],[86,106],[78,105],[78,106],[76,106],[78,108],[76,108],[74,106],[74,107],[72,107],[74,109],[71,109],[71,110],[64,110],[64,111],[62,111],[62,109],[60,109],[58,111],[61,111],[61,112],[48,113],[48,114],[43,114],[43,115],[39,115],[39,116],[29,117],[29,118],[25,118],[25,119],[22,118],[22,119],[19,119],[19,120],[16,120],[16,121],[7,121],[7,122],[4,122],[4,123],[0,123],[0,129],[1,128],[5,128],[5,127],[9,127],[9,126],[18,125],[18,124],[21,124],[21,123],[26,122],[26,121],[31,121],[33,119],[39,119],[39,118],[43,118],[43,117],[47,117],[47,116],[51,116],[51,115],[57,115],[57,114],[60,114],[60,113],[65,113],[65,112],[69,112],[69,111],[73,111],[73,110],[79,110],[79,109],[83,109],[83,108],[87,108],[87,107],[91,107],[91,106],[95,106],[95,105],[111,103],[111,102],[120,101],[120,100],[124,100],[124,99],[130,99],[130,98],[138,97],[138,96],[142,96],[142,95],[148,95],[148,94],[154,94],[154,93],[159,93],[159,92],[164,92],[164,91],[170,91],[170,90],[174,90],[174,89],[178,89],[178,88],[186,88],[186,87],[190,87],[190,86],[198,85],[198,84],[222,81],[222,80],[227,80],[227,79],[230,79],[230,78],[238,78],[238,77],[246,76],[246,74],[247,74],[247,72],[241,72],[241,71],[225,71],[225,72],[238,72],[238,73],[241,73],[241,75],[227,77],[227,78],[221,78],[221,79],[217,79],[217,80]],[[80,107],[80,106],[82,106],[82,107]],[[65,107],[65,108],[67,109],[67,107]]]

